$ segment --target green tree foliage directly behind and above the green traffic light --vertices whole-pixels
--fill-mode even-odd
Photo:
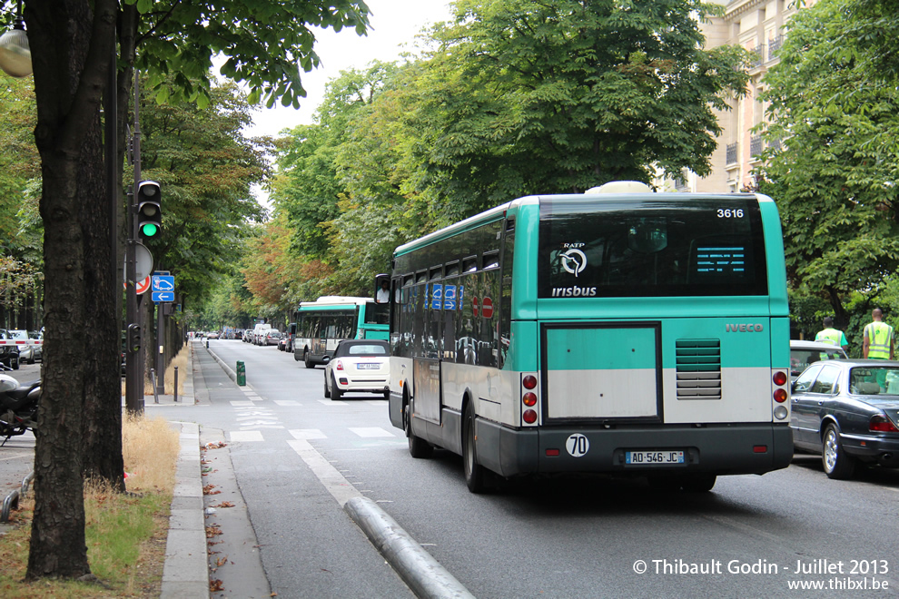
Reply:
[[[143,179],[163,192],[163,235],[147,245],[177,288],[203,301],[219,275],[240,260],[250,222],[264,211],[252,185],[269,175],[268,139],[247,139],[250,106],[233,83],[215,85],[210,104],[156,105],[144,96],[141,111]]]

